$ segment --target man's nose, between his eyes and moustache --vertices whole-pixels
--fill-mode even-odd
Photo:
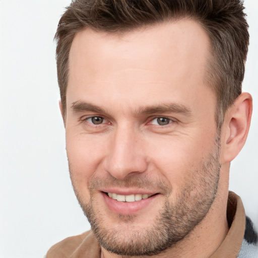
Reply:
[[[117,179],[147,169],[145,145],[140,132],[134,128],[117,128],[109,143],[106,171]]]

